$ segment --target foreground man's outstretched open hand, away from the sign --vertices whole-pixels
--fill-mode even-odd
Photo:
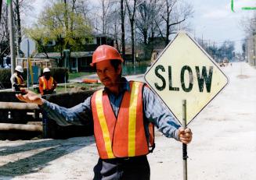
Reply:
[[[30,90],[21,90],[23,93],[25,93],[24,95],[22,94],[16,94],[16,97],[20,100],[20,101],[24,101],[27,103],[35,103],[38,105],[43,104],[43,101],[41,99],[41,97],[38,97],[38,94],[35,94],[34,92],[30,91]]]

